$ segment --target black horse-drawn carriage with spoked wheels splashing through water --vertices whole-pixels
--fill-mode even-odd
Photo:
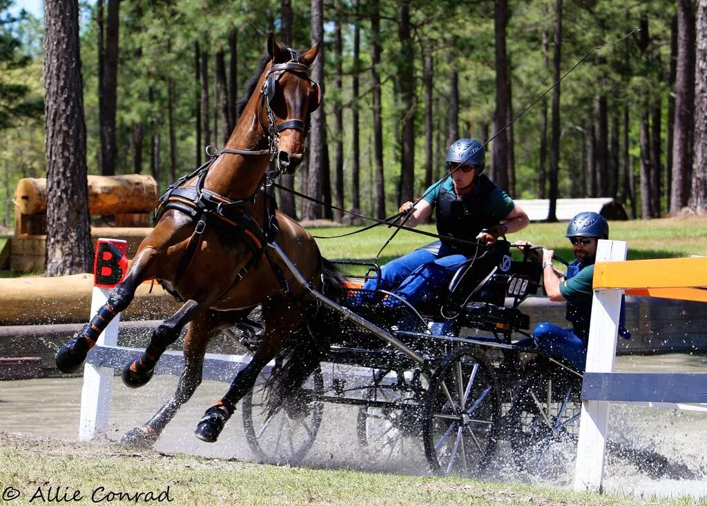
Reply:
[[[368,269],[354,278],[380,277],[375,264],[339,264]],[[490,268],[479,272],[480,265]],[[499,442],[508,443],[520,469],[563,470],[566,450],[575,445],[581,374],[534,349],[525,332],[530,318],[518,306],[537,292],[541,276],[539,263],[512,260],[501,240],[460,265],[448,292],[423,308],[402,299],[391,304],[395,294],[349,283],[310,327],[315,341],[329,343],[324,371],[317,366],[275,403],[267,396],[267,374],[245,396],[252,451],[269,462],[298,462],[317,437],[324,404],[335,403],[358,409],[361,445],[390,459],[419,447],[436,473],[477,474]],[[255,349],[257,322],[248,320],[234,335]]]

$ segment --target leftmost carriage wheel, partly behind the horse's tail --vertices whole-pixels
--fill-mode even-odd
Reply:
[[[298,464],[309,451],[322,424],[324,380],[317,366],[298,392],[270,408],[264,399],[267,375],[260,374],[243,397],[243,426],[257,459],[276,464]]]

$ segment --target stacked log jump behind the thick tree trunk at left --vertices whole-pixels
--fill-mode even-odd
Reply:
[[[112,216],[114,227],[93,227],[91,235],[128,241],[128,255],[151,230],[158,188],[152,176],[88,176],[88,212]],[[10,240],[10,268],[44,270],[47,249],[47,180],[25,178],[15,191],[15,234]]]

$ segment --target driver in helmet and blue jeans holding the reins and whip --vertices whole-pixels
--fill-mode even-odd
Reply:
[[[406,202],[400,212],[412,211],[406,226],[416,227],[436,208],[437,231],[465,241],[490,246],[498,236],[516,232],[530,222],[525,211],[483,174],[484,147],[478,140],[452,143],[446,162],[450,176],[434,183],[418,203]],[[382,267],[380,289],[392,291],[412,306],[436,297],[454,276],[457,267],[486,248],[454,243],[444,237]],[[374,290],[369,279],[364,290]],[[395,303],[394,299],[390,299]]]

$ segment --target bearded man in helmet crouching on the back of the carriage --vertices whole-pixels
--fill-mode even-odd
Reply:
[[[565,237],[572,243],[575,260],[568,265],[566,274],[563,274],[552,267],[555,252],[543,248],[542,275],[548,298],[551,301],[567,302],[565,318],[572,324],[572,328],[563,329],[552,323],[541,322],[535,326],[532,339],[524,339],[518,344],[527,346],[534,342],[538,349],[551,356],[559,356],[578,371],[584,371],[594,296],[592,281],[597,243],[599,239],[609,239],[609,224],[596,212],[580,212],[570,220]],[[527,248],[532,244],[518,241],[515,246]],[[631,338],[623,325],[623,311],[619,335],[624,339]]]

